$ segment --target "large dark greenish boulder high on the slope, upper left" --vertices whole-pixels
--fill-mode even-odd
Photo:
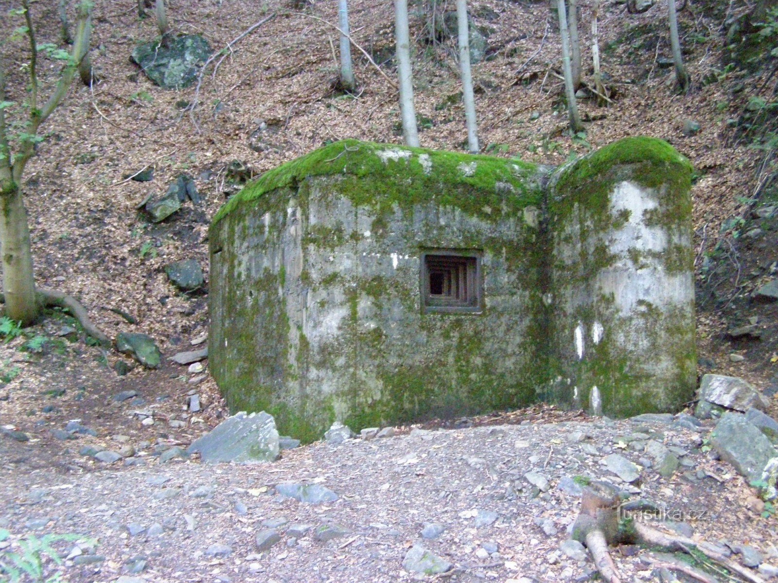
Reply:
[[[131,58],[156,85],[181,89],[195,81],[199,68],[211,53],[208,41],[199,34],[173,38],[166,35],[161,43],[152,40],[139,44],[133,49]]]

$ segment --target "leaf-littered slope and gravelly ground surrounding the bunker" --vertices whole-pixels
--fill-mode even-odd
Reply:
[[[56,4],[33,3],[39,42],[58,42]],[[182,102],[191,103],[194,87],[159,89],[129,61],[135,44],[156,36],[156,26],[152,18],[138,19],[134,3],[126,4],[96,0],[92,61],[97,81],[89,88],[74,87],[51,117],[45,127],[47,140],[30,162],[23,188],[37,285],[78,297],[110,337],[120,331],[150,334],[169,357],[207,334],[208,298],[207,285],[195,293],[177,292],[164,266],[195,258],[207,279],[209,218],[231,191],[225,180],[230,163],[240,160],[257,175],[325,141],[398,142],[398,99],[387,80],[356,51],[359,92],[349,96],[333,89],[338,33],[319,20],[336,22],[333,2],[315,2],[298,11],[278,0],[179,0],[170,2],[173,30],[202,33],[216,50],[252,23],[275,15],[225,51],[218,70],[205,75],[199,109],[184,111]],[[591,4],[580,5],[586,47],[584,23]],[[727,227],[734,218],[745,233],[755,221],[751,195],[761,160],[758,151],[734,139],[727,124],[759,93],[763,81],[759,75],[721,67],[722,23],[742,8],[737,2],[689,2],[681,12],[682,44],[693,79],[690,93],[681,96],[673,89],[672,69],[657,61],[670,56],[664,2],[642,15],[628,14],[623,5],[603,5],[600,46],[615,103],[601,108],[591,100],[581,101],[585,136],[566,132],[559,35],[547,5],[471,2],[475,23],[488,30],[490,46],[489,58],[474,67],[474,79],[480,138],[487,153],[556,165],[573,153],[647,134],[664,138],[691,160],[696,169],[692,197],[700,372],[741,376],[759,389],[769,389],[778,382],[778,309],[750,297],[778,260],[778,229],[759,223],[762,236],[738,238],[733,237],[734,228]],[[354,39],[394,77],[391,2],[352,0],[350,10]],[[0,23],[2,32],[10,26],[16,26],[12,19]],[[418,9],[412,12],[412,36],[419,49],[414,75],[422,145],[461,150],[466,136],[457,100],[455,51],[446,41],[424,41]],[[21,65],[23,42],[7,44],[5,50]],[[8,70],[9,98],[19,99],[23,68]],[[54,72],[50,62],[41,67],[44,81],[51,82]],[[696,121],[700,130],[685,135],[686,120]],[[250,148],[258,140],[261,152]],[[125,179],[146,167],[154,169],[151,182]],[[166,222],[149,222],[137,205],[148,194],[163,194],[180,173],[195,177],[204,201],[185,204]],[[706,263],[717,243],[726,252]],[[111,309],[126,312],[135,323]],[[761,340],[727,336],[727,330],[754,318]],[[0,526],[23,533],[31,529],[28,521],[47,518],[44,525],[51,531],[98,538],[96,552],[106,560],[68,567],[72,581],[114,581],[126,572],[124,561],[136,555],[148,557],[149,570],[138,576],[149,581],[402,581],[411,577],[401,571],[401,560],[418,539],[419,525],[436,521],[449,528],[429,546],[461,567],[454,581],[520,576],[572,581],[585,576],[591,563],[549,558],[575,515],[575,497],[559,490],[559,482],[607,473],[598,460],[614,448],[622,449],[623,435],[640,432],[629,422],[612,426],[548,410],[525,411],[501,420],[475,420],[474,428],[433,424],[429,429],[440,431],[429,435],[412,436],[406,428],[403,435],[380,442],[339,448],[318,443],[285,452],[271,466],[212,468],[191,461],[163,465],[155,451],[187,445],[227,413],[207,368],[204,379],[168,361],[156,371],[136,366],[119,376],[114,372],[117,361],[133,363],[85,344],[77,334],[60,336],[63,326],[72,324],[61,312],[48,312],[40,324],[0,345],[0,425],[30,436],[28,442],[0,437]],[[137,395],[114,400],[122,391]],[[187,410],[192,392],[200,397],[202,411]],[[770,412],[776,413],[775,403]],[[154,424],[142,424],[149,413]],[[517,424],[530,418],[530,426]],[[72,420],[96,435],[58,438],[53,430],[64,429]],[[489,424],[504,425],[503,433],[490,433]],[[774,518],[761,517],[745,480],[703,454],[700,440],[707,429],[699,434],[650,430],[688,449],[689,467],[669,480],[647,472],[640,485],[644,492],[635,494],[678,508],[688,518],[684,522],[710,539],[753,543],[775,564]],[[579,445],[568,440],[572,431],[591,434],[587,443],[597,452],[579,452]],[[517,447],[517,442],[530,445]],[[106,467],[79,454],[85,446],[116,449],[117,444],[131,445],[138,454],[134,457],[149,463]],[[408,456],[419,461],[410,463],[413,458]],[[468,456],[485,462],[471,463]],[[402,459],[406,461],[398,462]],[[545,473],[552,490],[539,496],[526,485],[517,490],[515,483],[530,470]],[[692,480],[689,473],[703,477]],[[149,485],[147,479],[158,476],[168,477],[165,486],[180,492],[157,500],[156,482]],[[310,508],[279,500],[272,485],[286,480],[321,482],[340,498]],[[203,498],[190,495],[201,486],[216,490]],[[510,488],[516,491],[511,494]],[[238,499],[248,507],[247,514],[235,511]],[[699,518],[702,503],[708,518]],[[466,514],[474,508],[496,511],[500,518],[484,527],[487,530],[475,529],[469,522],[474,517]],[[194,529],[178,520],[184,514],[195,517]],[[250,531],[262,520],[279,516],[290,523],[342,522],[353,534],[330,543],[303,544],[302,537],[296,546],[281,544],[248,557],[255,553]],[[533,522],[538,517],[551,518],[557,534],[546,534]],[[128,523],[148,527],[152,522],[163,525],[161,537],[128,536]],[[346,545],[352,536],[357,538]],[[204,553],[212,543],[232,546],[233,554],[208,557]],[[482,543],[495,543],[499,555],[478,558],[483,553],[475,553]],[[651,580],[650,568],[640,557],[619,560],[626,561],[626,570],[637,578]]]

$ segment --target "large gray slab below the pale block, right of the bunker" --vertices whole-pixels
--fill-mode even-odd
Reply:
[[[757,480],[776,450],[745,415],[725,413],[713,429],[710,445],[748,480]]]

